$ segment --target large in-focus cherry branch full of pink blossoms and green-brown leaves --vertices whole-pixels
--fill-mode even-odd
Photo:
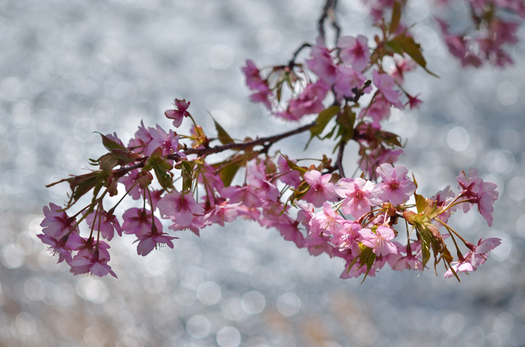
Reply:
[[[416,192],[408,169],[395,166],[403,152],[400,137],[382,129],[391,107],[421,104],[403,83],[417,66],[427,70],[421,47],[400,25],[401,7],[395,4],[391,21],[379,26],[382,38],[376,36],[373,47],[358,35],[339,37],[337,45],[328,48],[320,35],[316,45],[301,46],[300,50],[310,47],[304,63],[296,62],[299,50],[288,64],[266,72],[246,62],[242,71],[251,101],[286,121],[314,115],[309,124],[236,142],[215,122],[217,136],[208,137],[188,111],[190,102],[175,99],[174,109],[164,114],[175,128],[190,118],[190,133],[141,122],[127,146],[116,133],[101,135],[108,153],[90,159],[99,169],[52,184],[68,182],[72,192],[64,208],[53,203],[44,208],[43,234],[38,237],[58,262],[66,261],[71,273],[117,277],[108,265],[108,242],[116,234],[134,235],[138,255],[146,256],[158,247],[174,248],[176,232],[198,236],[209,225],[224,226],[240,217],[277,229],[312,255],[344,259],[342,278],[375,276],[387,263],[398,271],[422,271],[431,250],[434,268],[443,261],[445,277],[459,280],[458,273],[476,270],[500,240],[480,240],[474,246],[447,223],[458,209],[466,213],[476,206],[491,226],[496,185],[471,169],[468,177],[460,172],[457,193],[448,186],[425,198]],[[388,71],[383,69],[385,61],[392,64]],[[281,98],[283,89],[291,95],[287,101]],[[365,94],[369,102],[360,104]],[[337,159],[271,154],[278,140],[302,132],[309,132],[310,140],[333,139]],[[354,163],[357,176],[345,177],[343,151],[351,141],[359,145],[360,159]],[[208,159],[226,151],[233,153],[222,161]],[[104,198],[116,196],[119,189],[125,192],[122,199],[105,208]],[[66,210],[90,191],[91,203],[69,216]],[[139,207],[117,216],[124,198],[137,201]],[[406,221],[399,224],[405,225],[406,238],[397,230],[402,227],[396,229],[400,219]],[[87,237],[80,236],[81,225],[89,231]],[[396,237],[404,241],[394,241]],[[454,240],[456,262],[445,244],[448,237]],[[456,239],[470,250],[467,254],[460,252]]]

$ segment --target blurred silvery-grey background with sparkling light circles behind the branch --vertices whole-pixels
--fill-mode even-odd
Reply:
[[[341,0],[343,34],[373,34],[356,0]],[[461,69],[436,34],[425,0],[410,23],[433,78],[407,89],[419,112],[387,127],[408,140],[401,162],[432,195],[475,166],[496,182],[492,229],[475,212],[453,224],[471,242],[502,244],[461,283],[432,270],[339,278],[340,259],[312,257],[275,230],[237,220],[179,232],[175,249],[137,256],[133,237],[111,243],[119,279],[73,276],[39,242],[42,208],[103,154],[93,131],[124,142],[140,120],[168,128],[175,97],[214,134],[210,111],[237,138],[296,125],[247,101],[239,67],[286,62],[312,42],[320,0],[0,1],[0,346],[520,346],[525,344],[525,44],[504,70]],[[460,15],[458,26],[464,23]],[[519,32],[525,39],[525,30]],[[370,36],[371,37],[371,36]],[[187,128],[186,128],[187,130]],[[307,135],[278,143],[291,157],[331,153]],[[355,149],[355,147],[353,148]],[[352,172],[357,157],[346,150]],[[133,202],[130,202],[132,204]],[[80,203],[79,203],[80,205]],[[123,209],[129,205],[123,205]]]

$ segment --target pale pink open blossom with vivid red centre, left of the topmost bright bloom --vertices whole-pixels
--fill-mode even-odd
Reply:
[[[353,218],[358,220],[366,212],[370,212],[370,207],[375,204],[373,199],[372,189],[374,189],[372,181],[365,181],[362,178],[341,178],[337,185],[334,186],[334,191],[344,198],[341,205],[344,214],[351,214]]]

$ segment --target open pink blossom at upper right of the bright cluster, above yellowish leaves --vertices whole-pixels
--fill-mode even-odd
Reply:
[[[376,171],[381,175],[383,182],[374,187],[372,194],[381,201],[390,201],[394,206],[401,205],[416,190],[414,182],[406,178],[408,170],[404,165],[394,168],[390,164],[381,164]]]

